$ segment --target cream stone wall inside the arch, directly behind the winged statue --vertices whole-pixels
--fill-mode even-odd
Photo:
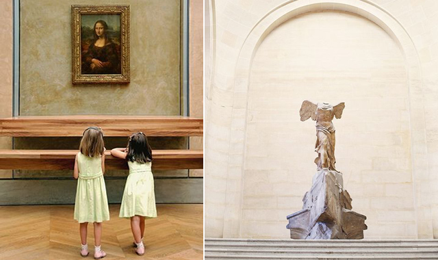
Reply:
[[[307,99],[346,103],[336,168],[366,237],[415,237],[406,77],[396,42],[361,16],[312,12],[274,29],[251,68],[240,235],[259,237],[263,222],[264,237],[287,237],[285,216],[302,208],[316,170],[315,122],[298,113]]]

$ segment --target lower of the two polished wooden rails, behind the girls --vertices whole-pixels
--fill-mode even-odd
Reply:
[[[73,170],[77,150],[0,150],[1,170]],[[202,150],[154,150],[152,168],[202,169]],[[105,152],[105,169],[127,170],[124,159]]]

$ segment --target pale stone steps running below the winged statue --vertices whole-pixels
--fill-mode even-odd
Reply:
[[[438,239],[205,239],[205,259],[438,259]]]

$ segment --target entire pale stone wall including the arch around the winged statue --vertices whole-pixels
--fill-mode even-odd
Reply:
[[[368,216],[365,238],[438,237],[438,2],[339,0],[351,5],[340,12],[322,2],[209,1],[206,237],[289,236],[285,216],[302,207],[315,172],[314,125],[298,120],[304,99],[346,101],[334,122],[337,168]],[[263,20],[311,3],[285,23]],[[332,11],[311,12],[324,7]],[[413,53],[389,25],[355,14],[369,7],[396,21]],[[263,23],[277,28],[266,36]],[[257,52],[242,54],[251,35],[263,36]],[[247,90],[238,59],[251,64]]]

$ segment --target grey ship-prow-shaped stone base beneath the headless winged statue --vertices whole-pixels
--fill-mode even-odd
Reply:
[[[324,168],[316,172],[302,210],[287,216],[292,239],[363,239],[366,217],[352,211],[342,173]]]

